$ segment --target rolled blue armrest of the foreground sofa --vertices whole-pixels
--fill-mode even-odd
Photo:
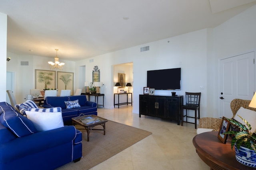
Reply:
[[[10,159],[24,157],[42,150],[47,150],[66,143],[71,143],[76,137],[74,126],[64,126],[50,131],[42,131],[20,137],[1,145],[0,160],[3,162]]]

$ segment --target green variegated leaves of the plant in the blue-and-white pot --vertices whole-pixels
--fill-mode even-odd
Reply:
[[[243,119],[240,115],[238,116],[244,121],[244,123],[246,123],[246,125],[243,125],[234,119],[228,119],[230,123],[237,127],[236,129],[225,133],[234,136],[231,140],[231,149],[233,150],[233,147],[236,144],[236,148],[238,150],[240,149],[240,146],[243,146],[256,152],[256,133],[251,132],[252,127],[248,121]]]

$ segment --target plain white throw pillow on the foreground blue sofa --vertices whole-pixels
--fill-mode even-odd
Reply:
[[[61,112],[26,111],[26,115],[32,121],[37,131],[48,131],[64,127]]]

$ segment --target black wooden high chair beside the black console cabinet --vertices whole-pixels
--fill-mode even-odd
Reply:
[[[195,119],[195,129],[196,129],[196,119],[200,119],[200,98],[201,98],[201,92],[200,93],[190,93],[186,92],[186,104],[181,106],[182,108],[182,116],[181,116],[181,125],[183,126],[183,122],[187,123],[192,123],[188,122],[187,118],[193,118]],[[186,115],[184,115],[183,110],[186,109]],[[194,110],[195,115],[193,116],[188,116],[187,110]],[[198,117],[197,117],[197,110],[198,110]],[[186,117],[186,121],[184,121],[184,117]]]

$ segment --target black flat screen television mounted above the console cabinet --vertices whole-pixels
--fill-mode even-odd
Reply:
[[[180,90],[181,68],[149,70],[147,87],[156,90]]]

